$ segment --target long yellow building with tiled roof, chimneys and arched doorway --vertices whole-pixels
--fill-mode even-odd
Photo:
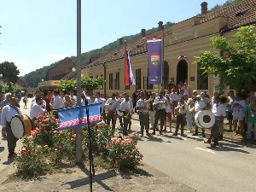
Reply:
[[[103,90],[97,90],[111,96],[112,92],[128,92],[134,90],[161,90],[169,79],[176,84],[187,82],[189,92],[192,90],[207,91],[212,95],[213,88],[218,85],[218,77],[204,77],[200,64],[193,64],[195,56],[201,51],[212,50],[217,55],[222,53],[211,47],[211,38],[224,36],[230,39],[240,26],[256,24],[256,1],[243,0],[239,3],[207,13],[207,3],[201,3],[201,15],[183,20],[174,26],[163,29],[159,22],[159,32],[151,37],[164,37],[163,84],[148,84],[147,39],[145,29],[142,38],[137,42],[124,45],[119,39],[119,48],[92,61],[82,68],[82,74],[91,78],[104,77],[106,84]],[[136,85],[125,86],[125,49],[131,55],[131,68],[136,78]],[[228,88],[227,88],[228,89]]]

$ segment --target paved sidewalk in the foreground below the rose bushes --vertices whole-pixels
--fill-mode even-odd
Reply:
[[[93,191],[104,192],[192,192],[195,189],[189,188],[183,183],[177,183],[174,179],[167,177],[164,173],[157,171],[153,167],[139,166],[143,170],[143,175],[129,175],[113,171],[96,171],[93,177]],[[46,175],[33,180],[20,180],[12,183],[3,181],[15,172],[15,168],[10,165],[3,172],[0,172],[0,191],[90,191],[89,171],[86,168],[74,167],[72,173],[57,173]]]

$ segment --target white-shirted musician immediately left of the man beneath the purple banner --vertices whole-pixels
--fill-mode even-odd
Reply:
[[[144,93],[141,94],[141,98],[137,101],[137,110],[139,111],[139,119],[141,125],[141,137],[143,137],[144,127],[146,130],[147,135],[149,136],[148,129],[149,129],[149,101],[145,100],[146,96]]]

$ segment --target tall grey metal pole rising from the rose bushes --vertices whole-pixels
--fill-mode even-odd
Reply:
[[[77,96],[81,106],[81,0],[77,0]],[[81,110],[79,110],[79,118]],[[76,128],[76,163],[82,163],[82,127]]]

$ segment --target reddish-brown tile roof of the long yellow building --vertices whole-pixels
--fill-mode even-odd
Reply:
[[[256,0],[242,0],[239,3],[234,3],[229,6],[226,6],[221,9],[217,9],[212,11],[206,15],[201,15],[201,23],[207,22],[209,20],[218,18],[218,17],[227,17],[228,24],[227,27],[235,27],[242,26],[253,21],[256,21]],[[166,28],[165,36],[172,33],[172,26]],[[150,35],[150,37],[161,36],[162,32],[155,32]],[[128,44],[126,49],[130,51],[130,55],[138,55],[147,52],[147,41],[146,38],[141,38],[136,42]],[[96,59],[96,61],[92,61],[86,67],[96,66],[103,64],[104,62],[116,61],[124,58],[125,47],[121,46],[113,52],[108,53],[107,55],[103,55],[102,57]],[[84,67],[84,68],[86,68]]]

